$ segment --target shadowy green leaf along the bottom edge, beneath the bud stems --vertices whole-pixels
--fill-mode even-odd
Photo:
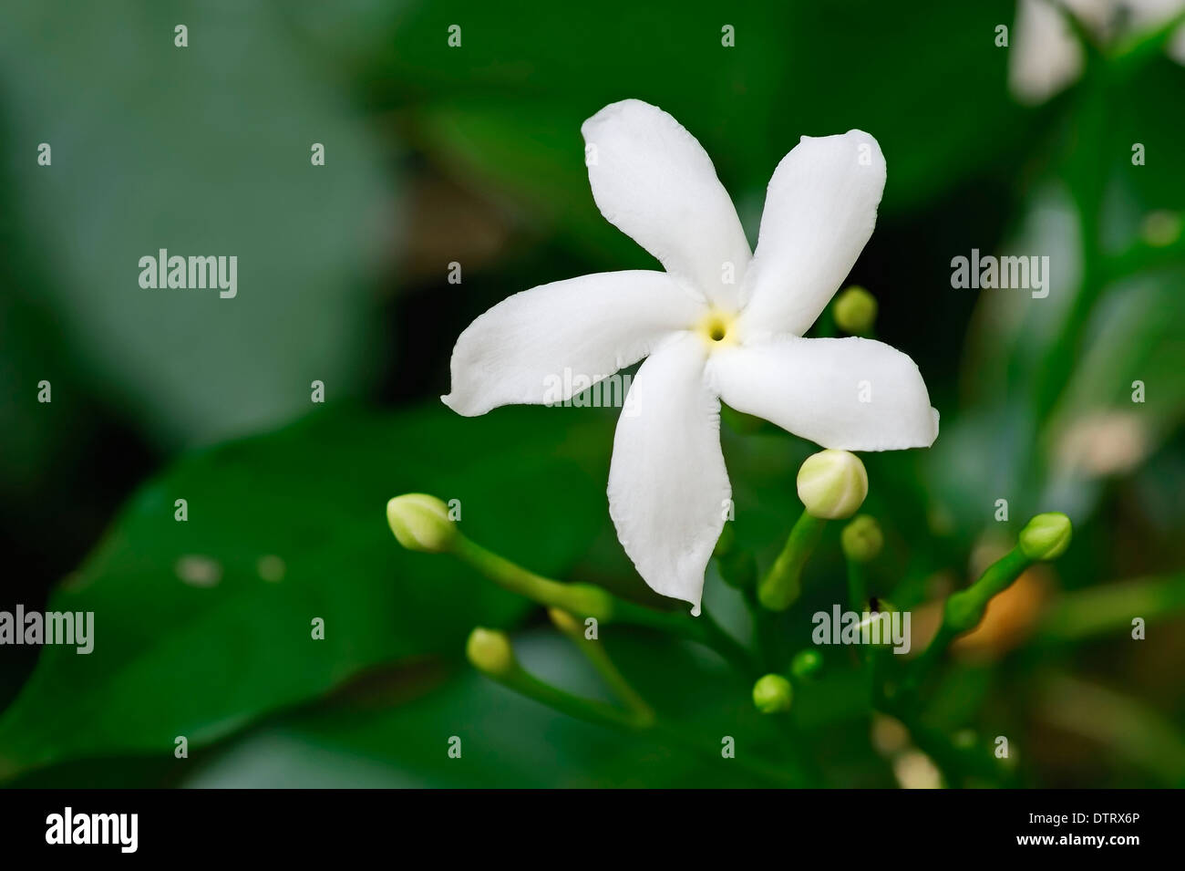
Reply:
[[[754,709],[750,687],[694,647],[628,627],[602,641],[667,730],[627,734],[557,713],[465,670],[406,702],[417,677],[373,683],[230,744],[187,781],[196,787],[770,787],[796,782],[802,752],[787,723]],[[524,665],[549,683],[604,696],[588,662],[555,632],[515,639]],[[858,690],[831,687],[834,696]],[[391,704],[392,700],[395,704]],[[812,698],[814,705],[818,699]],[[819,728],[835,742],[851,712]],[[461,739],[461,757],[448,754]],[[722,756],[723,739],[735,757]],[[844,735],[845,741],[850,735]],[[811,738],[818,745],[819,736]],[[845,747],[847,744],[845,743]],[[866,742],[865,742],[866,748]],[[830,754],[827,754],[830,755]],[[809,766],[809,762],[807,762]],[[837,782],[885,784],[870,750],[850,750]]]

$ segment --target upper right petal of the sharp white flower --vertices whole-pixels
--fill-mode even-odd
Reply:
[[[885,159],[866,133],[803,136],[774,171],[741,326],[751,339],[802,335],[877,223]]]

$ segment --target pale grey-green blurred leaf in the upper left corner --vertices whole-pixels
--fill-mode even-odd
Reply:
[[[331,402],[371,383],[393,211],[378,141],[270,5],[171,6],[18,4],[0,27],[6,174],[45,302],[87,386],[166,446],[296,417],[314,379]],[[159,249],[238,257],[237,296],[142,289]]]

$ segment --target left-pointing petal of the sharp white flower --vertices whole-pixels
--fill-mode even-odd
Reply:
[[[600,273],[502,300],[453,348],[453,392],[466,417],[511,403],[563,402],[638,363],[705,306],[665,273]]]

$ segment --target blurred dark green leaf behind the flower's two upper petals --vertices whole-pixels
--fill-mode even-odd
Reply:
[[[1004,87],[1007,51],[994,45],[995,25],[1011,19],[1006,0],[974,9],[843,0],[726,11],[697,0],[614,14],[529,6],[532,26],[521,28],[480,4],[463,14],[409,8],[370,73],[371,98],[412,109],[430,153],[604,260],[620,251],[592,226],[579,126],[617,100],[655,103],[703,142],[751,238],[774,167],[801,135],[877,136],[890,167],[888,210],[925,203],[1023,141],[1026,116]],[[453,24],[459,47],[447,45]],[[722,45],[725,26],[734,46]]]

